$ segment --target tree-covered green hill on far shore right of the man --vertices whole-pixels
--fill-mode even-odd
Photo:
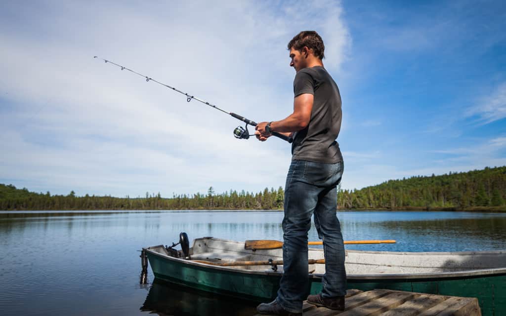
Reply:
[[[389,180],[341,191],[342,209],[506,210],[506,166]]]

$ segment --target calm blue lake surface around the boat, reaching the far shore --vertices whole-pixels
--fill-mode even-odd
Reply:
[[[142,247],[194,238],[282,240],[282,212],[0,211],[1,315],[253,315],[256,303],[141,282]],[[506,214],[338,212],[347,245],[389,251],[506,249]],[[309,240],[318,240],[314,225]]]

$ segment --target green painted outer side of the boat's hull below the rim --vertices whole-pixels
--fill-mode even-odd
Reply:
[[[253,272],[193,263],[146,251],[155,278],[241,299],[269,301],[276,297],[280,273]],[[310,275],[311,294],[321,291],[321,275]],[[348,288],[391,289],[449,296],[477,297],[484,316],[506,315],[506,269],[497,273],[434,278],[349,276]]]

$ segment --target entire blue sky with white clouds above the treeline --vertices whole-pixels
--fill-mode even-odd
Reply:
[[[501,1],[0,4],[0,183],[164,197],[284,186],[290,147],[234,118],[291,113],[286,43],[325,42],[343,98],[342,188],[506,164]]]

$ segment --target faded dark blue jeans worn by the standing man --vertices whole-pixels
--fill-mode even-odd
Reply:
[[[302,312],[310,289],[308,274],[308,231],[311,216],[323,240],[325,275],[322,297],[346,295],[345,248],[336,216],[337,189],[343,163],[292,160],[284,195],[283,276],[277,302],[287,311]]]

